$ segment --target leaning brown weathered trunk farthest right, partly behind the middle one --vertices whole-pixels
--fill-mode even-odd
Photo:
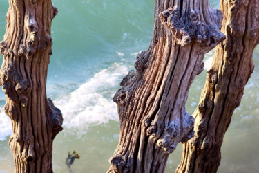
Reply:
[[[184,143],[176,172],[216,172],[220,147],[244,86],[253,72],[253,49],[259,42],[259,1],[221,0],[222,33],[195,118],[195,137]]]

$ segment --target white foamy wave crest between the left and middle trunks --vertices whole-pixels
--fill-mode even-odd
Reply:
[[[126,66],[115,63],[96,73],[69,95],[54,101],[63,113],[64,126],[81,127],[118,120],[117,106],[112,98],[119,87],[119,81],[126,73]]]

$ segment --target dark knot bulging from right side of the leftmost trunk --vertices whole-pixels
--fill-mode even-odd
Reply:
[[[54,106],[50,98],[47,100],[47,105],[48,120],[50,121],[50,125],[52,127],[52,138],[55,138],[59,131],[62,131],[63,129],[63,117],[61,111]]]

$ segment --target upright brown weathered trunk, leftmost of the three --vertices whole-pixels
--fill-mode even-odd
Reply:
[[[52,142],[63,121],[61,111],[46,98],[50,28],[57,8],[44,0],[9,0],[9,5],[0,42],[0,83],[12,120],[9,145],[15,172],[52,172]]]

